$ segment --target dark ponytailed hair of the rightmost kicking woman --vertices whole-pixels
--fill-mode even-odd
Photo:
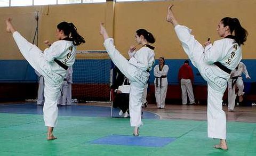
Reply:
[[[239,20],[237,18],[223,18],[221,20],[224,27],[229,26],[231,34],[233,31],[235,31],[235,40],[236,43],[240,46],[241,44],[244,44],[244,42],[247,39],[248,32],[241,26]]]

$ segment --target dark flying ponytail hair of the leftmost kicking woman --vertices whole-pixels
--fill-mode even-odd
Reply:
[[[68,23],[65,21],[60,22],[57,28],[59,30],[62,30],[65,35],[70,37],[74,45],[81,45],[82,43],[85,43],[84,38],[78,34],[78,32],[76,31],[76,26],[73,23]]]

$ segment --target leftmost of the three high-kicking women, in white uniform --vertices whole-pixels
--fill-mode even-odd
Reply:
[[[11,19],[6,20],[6,31],[11,32],[21,54],[29,64],[45,79],[44,88],[44,122],[47,126],[47,139],[56,139],[53,128],[57,124],[57,101],[60,94],[63,77],[68,67],[75,62],[76,46],[85,43],[73,23],[61,22],[56,29],[58,41],[49,44],[49,48],[41,51],[37,46],[29,43],[14,29]],[[47,42],[46,42],[47,44]]]

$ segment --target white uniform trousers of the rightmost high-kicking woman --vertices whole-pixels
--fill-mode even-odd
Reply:
[[[229,74],[214,64],[207,64],[204,47],[190,34],[185,26],[176,26],[175,32],[185,53],[207,81],[207,132],[208,137],[226,139],[226,114],[222,110],[222,96],[227,87]]]

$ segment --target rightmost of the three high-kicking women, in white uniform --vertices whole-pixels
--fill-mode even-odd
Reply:
[[[189,28],[179,25],[172,12],[172,6],[168,7],[166,20],[172,23],[183,50],[207,81],[208,137],[220,139],[220,143],[214,147],[227,150],[226,114],[222,110],[222,96],[227,88],[231,70],[235,69],[242,59],[241,45],[246,41],[247,31],[238,19],[223,18],[217,28],[218,35],[222,39],[213,44],[207,41],[204,48],[190,34]]]

